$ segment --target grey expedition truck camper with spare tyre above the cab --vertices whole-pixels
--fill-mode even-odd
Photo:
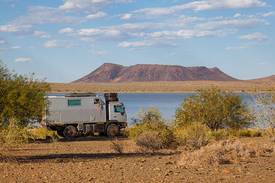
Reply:
[[[59,136],[74,138],[77,132],[116,136],[126,127],[126,113],[117,93],[69,93],[48,96],[50,106],[41,126],[57,131]]]

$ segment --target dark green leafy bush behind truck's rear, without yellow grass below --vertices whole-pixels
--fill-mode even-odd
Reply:
[[[48,103],[45,95],[50,91],[49,84],[30,77],[10,72],[0,61],[0,128],[17,119],[28,125],[41,119]]]

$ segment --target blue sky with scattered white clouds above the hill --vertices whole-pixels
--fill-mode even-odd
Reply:
[[[0,60],[72,82],[104,62],[275,74],[272,0],[0,0]]]

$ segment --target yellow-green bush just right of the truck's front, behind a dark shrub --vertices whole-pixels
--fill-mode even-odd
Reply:
[[[149,106],[147,111],[141,107],[140,111],[137,112],[137,117],[135,125],[129,129],[130,138],[136,140],[137,136],[140,136],[143,132],[153,131],[159,134],[164,148],[176,146],[173,127],[166,124],[161,112],[155,106]]]

